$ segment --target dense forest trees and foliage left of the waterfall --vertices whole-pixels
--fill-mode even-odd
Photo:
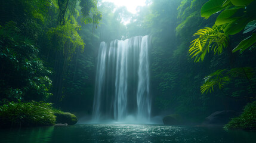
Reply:
[[[11,0],[0,7],[1,100],[44,100],[90,112],[97,1]]]

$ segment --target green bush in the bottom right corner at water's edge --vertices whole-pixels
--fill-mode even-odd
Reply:
[[[236,118],[230,120],[224,129],[256,129],[256,101],[245,106],[243,113]]]

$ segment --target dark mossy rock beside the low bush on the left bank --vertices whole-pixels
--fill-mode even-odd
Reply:
[[[78,119],[74,114],[68,113],[68,112],[63,112],[63,113],[54,113],[56,116],[56,122],[55,123],[61,123],[67,125],[75,125],[78,122]]]

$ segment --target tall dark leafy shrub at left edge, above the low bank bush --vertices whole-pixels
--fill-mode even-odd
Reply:
[[[33,41],[20,35],[13,21],[0,27],[0,38],[1,97],[10,100],[46,100],[50,97],[51,80],[46,75],[51,71],[38,58],[39,50]]]

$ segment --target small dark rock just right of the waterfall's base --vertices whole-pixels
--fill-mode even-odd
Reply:
[[[170,114],[163,119],[164,125],[183,125],[183,120],[178,114]]]

